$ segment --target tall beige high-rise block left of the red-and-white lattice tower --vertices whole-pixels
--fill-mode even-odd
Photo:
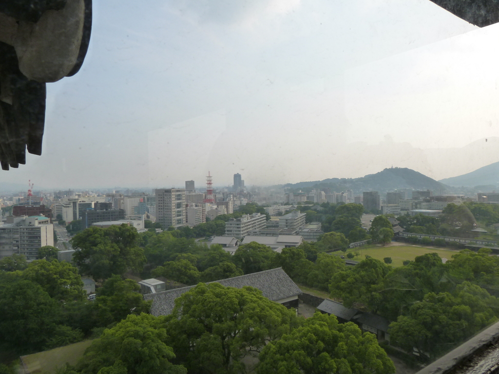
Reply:
[[[186,190],[184,188],[156,189],[156,222],[163,228],[186,225]]]

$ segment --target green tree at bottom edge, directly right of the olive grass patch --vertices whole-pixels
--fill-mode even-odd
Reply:
[[[186,374],[173,365],[163,319],[130,315],[92,342],[77,365],[81,374]]]

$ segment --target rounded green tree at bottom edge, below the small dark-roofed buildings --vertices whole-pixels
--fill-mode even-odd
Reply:
[[[376,337],[354,323],[317,312],[303,326],[271,341],[259,355],[258,374],[390,374],[395,366]]]

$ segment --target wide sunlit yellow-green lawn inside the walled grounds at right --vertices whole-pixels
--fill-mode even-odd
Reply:
[[[353,248],[349,249],[345,253],[345,258],[346,254],[349,252],[359,252],[358,257],[352,258],[354,261],[361,261],[365,259],[366,254],[371,256],[372,258],[375,258],[377,260],[383,261],[383,258],[385,257],[391,257],[392,258],[392,263],[391,265],[394,267],[397,266],[402,266],[402,262],[404,260],[414,260],[416,256],[421,256],[425,253],[433,253],[436,252],[440,256],[440,258],[447,258],[451,259],[453,254],[458,253],[458,251],[455,250],[450,250],[450,249],[436,249],[436,248],[428,248],[428,247],[421,247],[417,245],[397,245],[394,243],[387,244],[386,246],[382,245],[377,245],[377,244],[370,244],[370,245],[364,245],[358,248]],[[337,254],[338,252],[335,252]]]

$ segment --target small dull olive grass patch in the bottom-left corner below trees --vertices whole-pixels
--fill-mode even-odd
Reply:
[[[91,340],[85,340],[50,351],[22,356],[21,359],[30,373],[53,373],[57,368],[64,367],[66,363],[75,365],[90,344]]]

